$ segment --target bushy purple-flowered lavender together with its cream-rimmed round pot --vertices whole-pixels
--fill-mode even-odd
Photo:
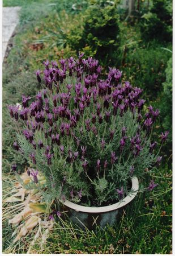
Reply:
[[[43,89],[35,100],[23,95],[22,109],[8,106],[25,128],[14,148],[36,170],[33,183],[41,189],[42,172],[45,198],[61,202],[72,221],[88,228],[113,224],[118,210],[134,199],[146,168],[161,162],[152,138],[159,110],[150,106],[146,112],[142,90],[121,82],[118,69],[109,68],[103,79],[92,57],[44,65],[44,80],[36,72]],[[161,134],[161,144],[167,136]],[[156,185],[151,181],[147,189]]]

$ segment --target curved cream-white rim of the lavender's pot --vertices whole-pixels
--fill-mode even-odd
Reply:
[[[66,207],[69,207],[71,209],[76,210],[76,212],[86,212],[86,213],[104,213],[104,212],[110,212],[112,210],[117,210],[121,207],[124,207],[126,204],[129,204],[130,201],[134,199],[136,194],[138,193],[139,189],[139,181],[137,177],[132,177],[132,187],[131,187],[131,193],[127,195],[122,201],[119,201],[116,204],[111,204],[105,207],[85,207],[83,205],[74,204],[69,200],[65,200],[63,202],[63,205]]]

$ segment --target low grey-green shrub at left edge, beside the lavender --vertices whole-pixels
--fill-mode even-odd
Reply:
[[[12,143],[16,134],[16,127],[11,121],[7,111],[7,104],[16,104],[19,102],[19,98],[25,92],[27,95],[35,95],[37,92],[37,82],[35,75],[31,72],[22,72],[20,75],[12,77],[11,81],[5,84],[6,79],[3,79],[3,172],[8,173],[11,169],[11,164],[14,161],[19,163],[18,171],[24,170],[25,159],[22,155],[16,154],[16,151],[12,147]],[[25,81],[25,82],[24,82]]]

